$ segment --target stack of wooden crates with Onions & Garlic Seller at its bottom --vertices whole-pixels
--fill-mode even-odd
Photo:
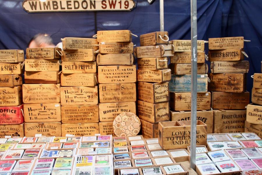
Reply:
[[[23,84],[25,136],[61,136],[60,48],[27,48]]]

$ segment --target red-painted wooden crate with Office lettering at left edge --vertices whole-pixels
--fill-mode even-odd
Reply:
[[[0,107],[0,125],[14,125],[24,122],[23,105]]]

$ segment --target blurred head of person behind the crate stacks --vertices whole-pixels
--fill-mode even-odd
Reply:
[[[28,48],[47,48],[55,47],[52,38],[48,34],[40,33],[31,38]]]

